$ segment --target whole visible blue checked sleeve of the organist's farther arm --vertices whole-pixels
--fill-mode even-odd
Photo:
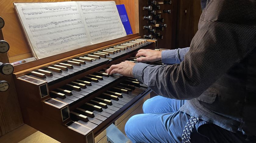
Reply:
[[[162,51],[162,63],[166,65],[171,65],[175,63],[180,64],[180,62],[183,61],[184,56],[186,55],[188,50],[189,47]]]

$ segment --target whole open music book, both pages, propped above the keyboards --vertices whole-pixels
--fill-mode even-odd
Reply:
[[[116,3],[14,3],[28,43],[40,59],[126,36]]]

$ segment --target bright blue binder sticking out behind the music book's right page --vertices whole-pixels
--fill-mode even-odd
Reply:
[[[120,15],[121,21],[123,23],[123,27],[125,29],[126,34],[127,35],[133,34],[133,31],[132,31],[132,28],[131,28],[131,25],[130,25],[130,21],[129,21],[128,16],[127,16],[125,6],[124,5],[116,5],[116,7],[117,7],[117,10],[119,12],[119,15]]]

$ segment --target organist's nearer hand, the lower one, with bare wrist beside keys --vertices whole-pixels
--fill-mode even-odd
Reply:
[[[112,75],[114,73],[119,73],[126,77],[133,77],[133,66],[134,65],[135,65],[135,63],[133,63],[133,62],[125,61],[125,62],[119,63],[117,65],[110,66],[110,68],[107,69],[105,71],[105,73],[108,73],[110,75]]]

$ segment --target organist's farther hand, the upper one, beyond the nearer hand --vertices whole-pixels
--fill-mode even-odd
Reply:
[[[140,57],[145,56],[145,57]],[[135,55],[138,62],[155,62],[161,60],[161,51],[151,49],[140,49]]]

